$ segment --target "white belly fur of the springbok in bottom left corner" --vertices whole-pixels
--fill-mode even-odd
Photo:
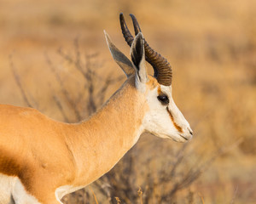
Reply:
[[[40,204],[26,192],[19,178],[0,173],[0,204],[12,203],[12,199],[15,204]]]

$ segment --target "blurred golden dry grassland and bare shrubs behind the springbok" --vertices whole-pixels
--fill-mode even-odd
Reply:
[[[108,174],[64,203],[256,203],[256,1],[1,0],[0,103],[62,122],[90,116],[125,75],[119,13],[172,65],[186,144],[143,134]],[[148,65],[148,72],[152,68]]]

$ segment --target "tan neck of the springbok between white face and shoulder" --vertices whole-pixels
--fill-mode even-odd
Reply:
[[[75,185],[107,173],[136,144],[147,111],[139,94],[130,80],[94,116],[74,125],[67,145],[77,169]]]

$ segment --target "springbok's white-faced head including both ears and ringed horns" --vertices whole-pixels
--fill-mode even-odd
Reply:
[[[192,138],[193,133],[189,122],[172,99],[172,67],[164,57],[150,48],[137,19],[133,14],[130,15],[135,38],[126,26],[123,14],[119,15],[119,20],[125,41],[131,47],[131,61],[113,45],[106,32],[105,36],[113,59],[128,78],[135,77],[135,87],[148,105],[148,111],[143,118],[143,131],[160,138],[185,142]],[[145,60],[152,65],[154,76],[148,75]]]

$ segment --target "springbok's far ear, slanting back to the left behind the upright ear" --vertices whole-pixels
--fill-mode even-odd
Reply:
[[[110,37],[108,36],[108,33],[104,31],[106,41],[108,43],[108,48],[110,50],[110,53],[115,60],[115,62],[119,65],[119,67],[122,68],[122,70],[125,72],[126,77],[130,77],[132,74],[134,74],[134,69],[132,66],[131,61],[123,54],[118,48],[116,48],[111,42]]]

